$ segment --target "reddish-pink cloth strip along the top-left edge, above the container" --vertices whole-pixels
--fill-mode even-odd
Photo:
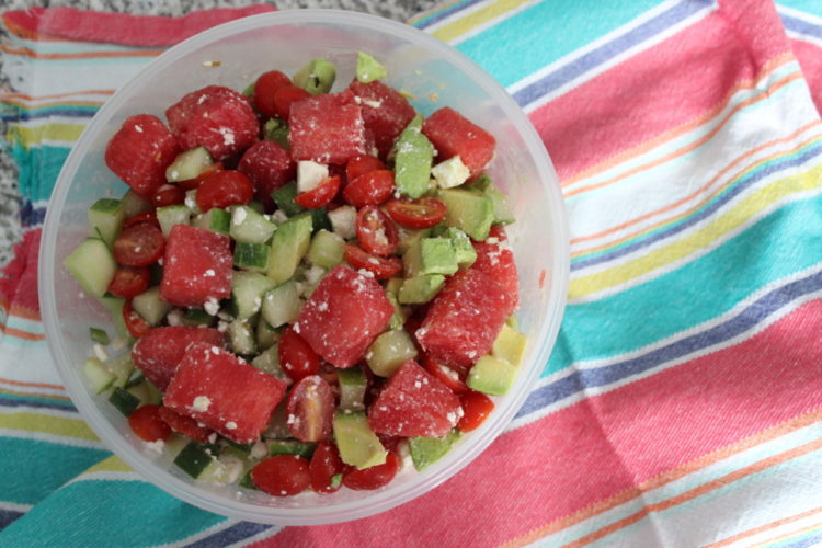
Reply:
[[[171,46],[212,26],[272,11],[266,4],[195,11],[181,18],[103,13],[72,8],[32,8],[3,18],[30,32],[129,46]]]

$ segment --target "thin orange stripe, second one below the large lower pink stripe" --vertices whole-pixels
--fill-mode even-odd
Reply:
[[[564,546],[567,547],[580,547],[585,546],[586,544],[593,543],[594,540],[598,540],[603,537],[606,537],[608,535],[612,535],[620,529],[624,529],[625,527],[628,527],[630,525],[633,525],[635,523],[639,522],[640,520],[648,516],[651,512],[663,512],[665,510],[672,509],[674,506],[678,506],[680,504],[684,504],[686,502],[693,501],[694,499],[697,499],[706,493],[709,493],[711,491],[716,491],[717,489],[721,489],[726,486],[729,486],[733,483],[734,481],[739,481],[742,478],[746,478],[749,476],[753,476],[754,473],[758,473],[763,470],[766,470],[770,467],[780,465],[783,463],[787,463],[788,460],[792,460],[795,458],[799,458],[803,455],[807,455],[809,453],[813,453],[817,449],[822,448],[822,439],[815,439],[813,442],[809,442],[804,445],[801,445],[799,447],[795,447],[792,449],[779,453],[777,455],[774,455],[773,457],[764,458],[762,460],[757,460],[756,463],[749,465],[744,468],[741,468],[737,471],[733,471],[731,473],[728,473],[726,476],[722,476],[721,478],[715,479],[712,481],[709,481],[707,483],[704,483],[699,487],[696,487],[694,489],[690,489],[688,491],[685,491],[682,494],[678,494],[676,496],[672,496],[665,501],[657,502],[654,504],[649,504],[639,512],[636,512],[628,517],[624,517],[623,520],[619,520],[617,522],[612,523],[610,525],[607,525],[606,527],[603,527],[598,530],[595,530],[593,533],[590,533],[589,535],[585,535],[584,537],[574,540],[573,543],[569,543]]]

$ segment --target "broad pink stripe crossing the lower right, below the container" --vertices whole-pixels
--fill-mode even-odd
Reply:
[[[822,299],[754,338],[503,435],[427,495],[282,546],[496,546],[822,408]],[[258,546],[264,546],[260,543]]]

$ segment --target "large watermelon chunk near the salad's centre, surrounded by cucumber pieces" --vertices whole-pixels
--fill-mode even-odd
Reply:
[[[336,266],[320,281],[294,330],[327,362],[351,367],[386,330],[392,313],[393,306],[374,277]]]

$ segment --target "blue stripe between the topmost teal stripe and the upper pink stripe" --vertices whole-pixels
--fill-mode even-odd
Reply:
[[[563,65],[557,70],[549,72],[540,80],[537,80],[517,91],[513,96],[522,106],[530,104],[537,99],[564,85],[567,82],[570,82],[595,67],[607,62],[637,44],[666,31],[681,21],[684,21],[711,5],[713,5],[713,2],[710,0],[695,0],[678,3],[667,11],[660,13],[655,18],[646,21],[636,28],[630,30],[626,34],[617,36],[613,41],[572,60],[568,65]]]

